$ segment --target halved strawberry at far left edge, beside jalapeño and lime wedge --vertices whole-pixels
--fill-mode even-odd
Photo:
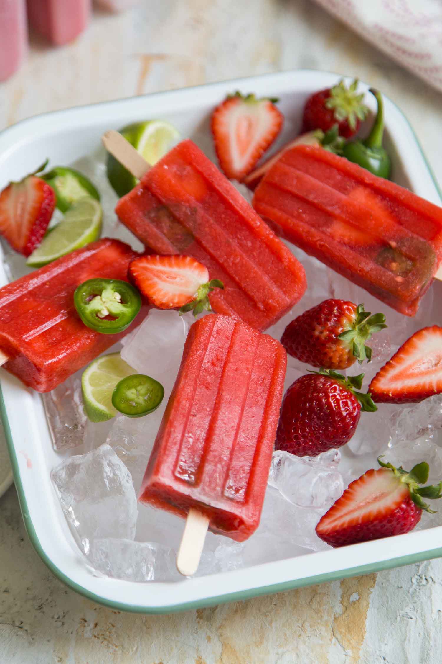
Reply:
[[[55,207],[54,189],[36,173],[11,182],[0,193],[0,234],[15,251],[29,256],[40,244]]]

